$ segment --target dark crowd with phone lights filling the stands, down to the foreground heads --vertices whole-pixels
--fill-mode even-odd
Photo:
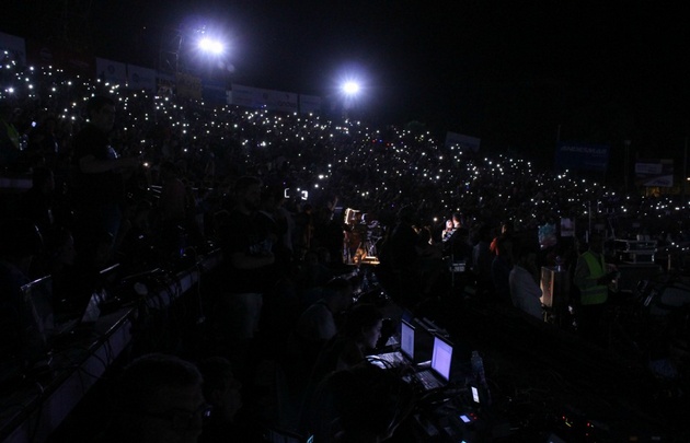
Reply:
[[[361,368],[383,317],[368,303],[350,307],[363,281],[347,265],[370,226],[363,234],[344,220],[343,208],[382,226],[377,278],[396,302],[412,306],[448,289],[449,257],[480,296],[536,317],[542,315],[538,265],[562,257],[583,291],[600,290],[606,282],[591,283],[588,263],[577,259],[585,252],[577,236],[593,218],[609,235],[648,229],[665,244],[688,240],[685,222],[669,217],[681,213],[670,200],[630,198],[572,173],[536,171],[527,160],[447,147],[416,127],[370,129],[211,105],[3,57],[0,168],[7,177],[32,178],[31,189],[3,194],[3,294],[51,275],[56,299],[69,304],[77,301],[68,294],[82,293],[79,285],[89,287],[88,276],[108,264],[150,269],[209,242],[223,254],[208,301],[218,340],[212,358],[194,355],[198,368],[158,353],[133,362],[105,441],[173,441],[156,440],[165,432],[196,441],[211,404],[226,421],[205,430],[203,441],[253,432],[232,417],[241,386],[253,383],[258,339],[283,359],[287,392],[311,394],[290,398],[301,410],[296,425],[313,431],[307,409],[314,408],[307,406],[325,401],[317,410],[341,413],[335,431],[320,430],[340,435],[334,441],[390,435],[409,411],[409,394]],[[621,222],[637,215],[665,224]],[[542,247],[539,228],[559,229],[561,219],[575,221],[573,237]],[[1,308],[3,317],[16,311],[7,299]],[[343,312],[348,315],[341,318]],[[15,352],[12,340],[5,345]],[[347,389],[369,392],[371,380],[396,398],[396,410],[382,405],[378,421],[356,413],[365,404]]]

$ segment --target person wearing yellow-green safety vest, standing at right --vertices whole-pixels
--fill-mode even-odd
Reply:
[[[607,265],[603,257],[603,237],[589,236],[589,248],[577,258],[573,283],[579,290],[576,311],[579,336],[593,343],[606,347],[605,315],[609,299],[609,284],[616,278],[616,268]]]

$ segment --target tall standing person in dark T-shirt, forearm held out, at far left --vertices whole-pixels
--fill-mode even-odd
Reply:
[[[123,173],[137,166],[136,158],[120,158],[111,145],[115,102],[95,95],[87,103],[88,125],[74,137],[73,198],[78,219],[74,234],[82,244],[107,232],[113,238],[122,219],[125,198]],[[78,240],[76,238],[76,240]]]

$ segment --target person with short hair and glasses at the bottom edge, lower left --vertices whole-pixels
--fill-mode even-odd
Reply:
[[[114,413],[96,442],[196,443],[208,406],[188,361],[153,353],[131,362],[114,390]]]

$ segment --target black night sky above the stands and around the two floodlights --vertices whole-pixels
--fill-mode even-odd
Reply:
[[[10,2],[1,30],[45,37],[61,1]],[[690,14],[645,1],[77,1],[101,57],[156,67],[164,35],[223,30],[231,81],[326,96],[365,85],[364,119],[482,139],[551,158],[561,140],[632,140],[635,155],[682,152],[690,127]],[[658,4],[657,4],[658,3]],[[676,4],[678,2],[674,2]],[[79,21],[79,19],[77,19]],[[53,22],[53,24],[46,24]],[[56,31],[53,31],[55,34]],[[43,35],[42,35],[43,34]],[[560,130],[559,130],[560,128]],[[547,154],[544,154],[547,155]]]

